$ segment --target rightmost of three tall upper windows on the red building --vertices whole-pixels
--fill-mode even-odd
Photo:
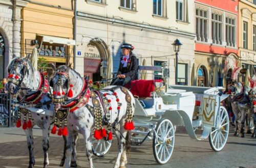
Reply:
[[[227,46],[236,46],[236,20],[226,17],[226,43]]]

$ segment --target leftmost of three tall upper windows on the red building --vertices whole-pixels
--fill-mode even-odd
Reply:
[[[196,9],[196,34],[197,41],[208,42],[208,11]]]

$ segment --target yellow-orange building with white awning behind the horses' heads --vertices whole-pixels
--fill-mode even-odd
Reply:
[[[39,58],[56,66],[73,61],[72,1],[33,0],[22,9],[21,55],[37,47]]]

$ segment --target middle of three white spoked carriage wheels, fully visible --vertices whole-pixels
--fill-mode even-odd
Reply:
[[[169,161],[174,150],[174,127],[169,119],[162,119],[156,127],[153,138],[153,152],[159,164]]]

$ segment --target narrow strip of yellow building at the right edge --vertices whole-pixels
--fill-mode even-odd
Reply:
[[[256,0],[239,1],[239,55],[241,66],[256,70]]]

